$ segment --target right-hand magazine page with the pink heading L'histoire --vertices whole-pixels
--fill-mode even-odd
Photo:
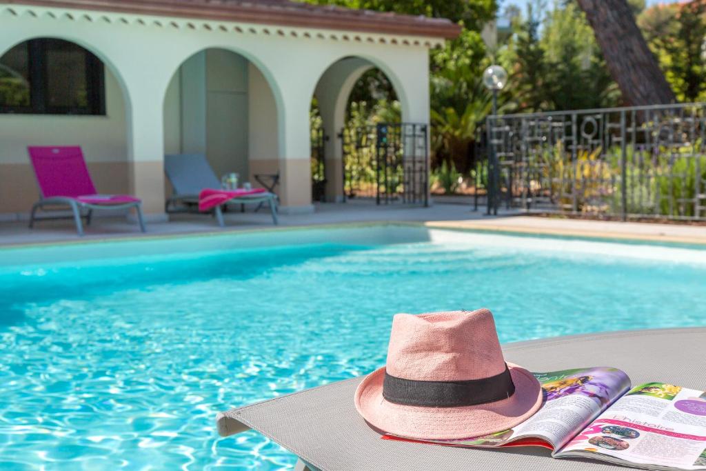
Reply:
[[[557,454],[567,455],[706,470],[706,393],[668,383],[637,386]]]

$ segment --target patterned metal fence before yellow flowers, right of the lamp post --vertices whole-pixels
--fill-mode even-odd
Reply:
[[[706,220],[706,104],[491,116],[489,211]]]

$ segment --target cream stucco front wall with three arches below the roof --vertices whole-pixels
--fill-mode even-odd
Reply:
[[[126,127],[100,141],[107,143],[103,147],[111,148],[117,141],[123,142],[123,155],[128,156],[128,189],[143,198],[147,213],[155,214],[163,211],[165,144],[174,145],[173,138],[165,132],[164,109],[168,105],[164,97],[174,73],[193,54],[212,48],[227,49],[258,68],[269,86],[277,125],[270,124],[270,97],[257,97],[260,77],[251,78],[253,74],[249,73],[250,166],[276,151],[273,157],[282,172],[282,203],[294,210],[306,210],[311,208],[309,108],[323,73],[345,57],[366,59],[381,68],[395,85],[403,120],[428,123],[429,46],[441,42],[427,37],[136,16],[0,1],[0,50],[32,37],[76,42],[116,72],[115,81],[127,97],[123,121]],[[252,69],[249,67],[249,72]],[[263,81],[259,82],[262,85]],[[184,124],[182,115],[182,129]],[[266,133],[262,131],[265,124],[270,124]],[[172,126],[173,120],[167,122],[167,129]],[[74,132],[88,134],[88,127],[81,127]],[[71,134],[67,132],[65,136]],[[7,136],[5,129],[0,129],[0,141]],[[8,158],[0,155],[2,160]]]

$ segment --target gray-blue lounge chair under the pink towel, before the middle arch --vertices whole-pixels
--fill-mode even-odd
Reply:
[[[199,195],[205,189],[220,189],[221,182],[208,165],[203,154],[172,154],[164,156],[164,172],[172,183],[174,195],[167,200],[167,213],[195,212],[198,209]],[[275,225],[277,224],[277,196],[269,191],[242,196],[233,196],[226,203],[268,203]],[[222,205],[214,208],[220,227],[223,221]]]

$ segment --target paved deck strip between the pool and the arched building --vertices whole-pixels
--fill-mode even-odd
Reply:
[[[210,232],[274,229],[268,212],[227,213],[225,229],[217,227],[208,215],[176,215],[171,222],[148,223],[142,234],[133,222],[124,219],[97,218],[86,227],[85,237],[76,236],[71,220],[40,222],[29,229],[26,222],[1,222],[0,246],[15,244],[51,244],[133,237],[159,237]],[[376,206],[369,203],[321,204],[313,214],[281,215],[280,226],[309,227],[366,222],[424,223],[429,227],[474,229],[522,234],[548,234],[570,237],[632,239],[652,242],[705,244],[706,226],[666,225],[643,222],[606,222],[523,216],[501,210],[498,216],[486,216],[484,208],[472,211],[467,205],[436,204],[431,208],[402,205]]]

